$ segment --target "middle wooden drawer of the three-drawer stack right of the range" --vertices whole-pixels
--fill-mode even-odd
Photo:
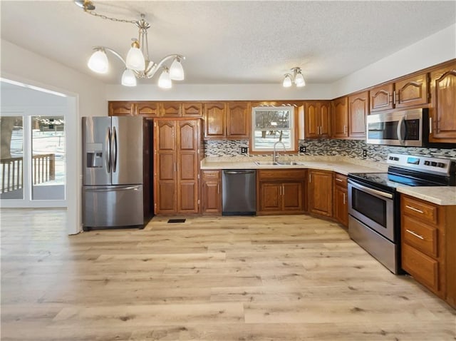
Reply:
[[[426,255],[438,257],[437,254],[437,228],[425,225],[418,220],[403,215],[402,221],[403,241],[417,248]]]

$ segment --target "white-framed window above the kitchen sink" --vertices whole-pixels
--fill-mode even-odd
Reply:
[[[274,143],[281,141],[286,152],[296,152],[295,121],[294,106],[252,108],[251,151],[270,153],[274,151]]]

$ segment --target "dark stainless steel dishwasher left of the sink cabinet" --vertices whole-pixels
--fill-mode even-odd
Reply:
[[[222,176],[222,215],[257,213],[257,170],[224,169]]]

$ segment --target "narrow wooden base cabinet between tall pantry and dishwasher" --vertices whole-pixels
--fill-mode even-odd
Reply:
[[[222,213],[221,170],[202,170],[202,213]]]

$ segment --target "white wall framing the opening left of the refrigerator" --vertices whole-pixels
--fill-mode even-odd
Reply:
[[[1,77],[66,93],[70,119],[66,135],[68,233],[81,227],[81,116],[107,115],[105,85],[95,78],[1,40]],[[73,126],[73,128],[70,128]]]

